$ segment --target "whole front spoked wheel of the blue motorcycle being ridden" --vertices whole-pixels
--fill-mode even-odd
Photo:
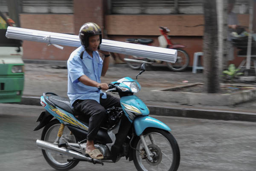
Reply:
[[[143,136],[149,151],[153,154],[152,161],[147,158],[140,137],[135,140],[133,150],[134,165],[138,171],[177,171],[180,164],[180,149],[171,133],[156,128],[147,129]]]

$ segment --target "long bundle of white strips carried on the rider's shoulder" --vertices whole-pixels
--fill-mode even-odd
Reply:
[[[81,46],[79,36],[77,35],[61,34],[10,26],[7,28],[6,37],[10,39],[29,40],[62,46]],[[147,57],[171,63],[175,63],[177,58],[177,51],[175,49],[138,45],[106,39],[102,39],[100,50],[119,54],[134,55],[138,57]]]

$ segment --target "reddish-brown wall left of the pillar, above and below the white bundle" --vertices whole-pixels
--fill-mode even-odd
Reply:
[[[74,34],[73,14],[20,14],[22,28],[57,33]],[[29,60],[67,60],[76,48],[64,46],[61,50],[47,43],[23,41],[23,59]]]

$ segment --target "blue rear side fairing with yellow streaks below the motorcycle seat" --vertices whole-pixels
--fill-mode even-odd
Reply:
[[[70,114],[67,111],[62,110],[61,108],[58,108],[58,106],[56,106],[56,108],[52,107],[51,105],[46,103],[46,101],[44,100],[44,96],[41,96],[41,101],[47,104],[44,108],[50,114],[52,114],[52,116],[58,119],[60,123],[63,123],[65,125],[73,125],[85,131],[88,131],[88,127],[81,123],[79,120],[77,120],[73,114]]]

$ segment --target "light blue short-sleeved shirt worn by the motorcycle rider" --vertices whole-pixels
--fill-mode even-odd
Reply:
[[[87,51],[84,51],[83,59],[81,59],[80,54],[82,51],[84,51],[84,47],[80,46],[70,54],[70,57],[67,60],[67,96],[69,97],[71,104],[78,99],[91,99],[96,100],[99,103],[100,93],[102,93],[102,91],[97,87],[84,85],[78,79],[82,75],[86,75],[91,80],[100,83],[103,60],[99,57],[98,51],[93,51],[93,57],[91,57]],[[102,98],[107,98],[105,93],[102,95]]]

